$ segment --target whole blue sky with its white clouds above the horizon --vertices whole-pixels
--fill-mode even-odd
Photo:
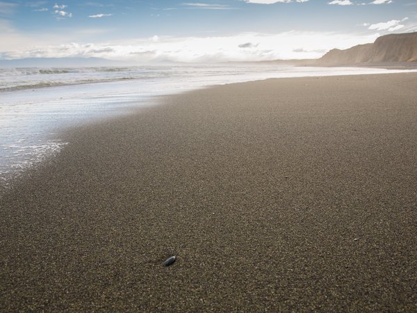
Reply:
[[[319,58],[417,31],[417,0],[0,0],[0,60]]]

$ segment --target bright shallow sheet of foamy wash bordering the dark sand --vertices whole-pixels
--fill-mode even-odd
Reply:
[[[282,68],[285,69],[286,67]],[[350,69],[353,70],[353,73],[349,73],[350,70],[346,68],[336,68],[336,70],[332,69],[327,72],[322,72],[323,69],[324,68],[319,70],[319,72],[316,72],[317,69],[315,67],[309,67],[308,69],[300,68],[299,70],[301,72],[297,72],[298,70],[286,72],[286,70],[284,70],[284,72],[275,73],[277,75],[281,74],[284,77],[275,78],[280,79],[285,78],[285,76],[288,78],[289,76],[327,77],[340,76],[341,74],[346,76],[348,74],[386,73],[384,69]],[[375,73],[375,71],[377,71],[377,73]],[[404,73],[408,71],[396,70],[389,74],[394,74],[395,72]],[[133,87],[126,87],[131,85],[131,81],[126,81],[123,86],[118,86],[120,83],[117,83],[114,86],[113,83],[115,82],[111,83],[111,85],[106,85],[106,83],[93,83],[90,85],[78,85],[75,89],[73,85],[45,88],[44,90],[17,90],[15,94],[3,94],[3,102],[11,102],[11,106],[9,109],[8,106],[3,106],[2,108],[2,114],[10,116],[10,118],[8,120],[0,119],[0,123],[6,123],[3,125],[3,132],[0,132],[0,138],[2,138],[2,141],[0,141],[0,150],[2,150],[1,152],[4,154],[3,161],[0,163],[0,189],[7,188],[6,185],[10,182],[8,177],[20,175],[22,169],[24,170],[26,168],[36,166],[43,159],[47,159],[49,154],[55,154],[56,147],[65,144],[60,140],[60,138],[57,138],[55,134],[52,133],[65,133],[65,129],[67,127],[76,127],[77,125],[82,125],[85,122],[89,123],[90,120],[105,120],[106,118],[112,118],[113,116],[119,115],[120,111],[127,112],[131,109],[135,110],[136,106],[148,106],[152,102],[153,97],[160,97],[163,95],[169,96],[178,93],[181,94],[192,90],[223,86],[227,83],[245,82],[245,80],[256,81],[271,79],[269,74],[266,72],[263,73],[263,75],[266,75],[263,79],[261,79],[261,77],[255,79],[251,76],[259,74],[261,73],[255,74],[255,72],[252,72],[251,74],[250,72],[247,72],[249,77],[244,79],[244,81],[240,81],[241,79],[236,78],[227,78],[226,76],[220,74],[217,78],[217,82],[210,82],[208,79],[205,83],[200,82],[195,85],[192,84],[189,85],[188,88],[184,88],[182,86],[179,89],[168,88],[167,90],[163,90],[161,89],[162,87],[159,86],[159,92],[156,92],[154,95],[151,95],[152,93],[149,93],[149,90],[146,90],[144,86],[138,86],[139,90],[136,89],[136,91],[132,89]],[[220,77],[222,77],[222,79],[220,79]],[[275,78],[272,77],[272,79]],[[177,83],[177,87],[180,87],[180,85],[181,83]],[[126,97],[120,95],[119,97],[113,98],[113,95],[110,93],[104,93],[100,86],[101,88],[107,86],[113,90],[113,93],[120,93],[120,90],[125,90],[125,92],[126,90],[130,90],[129,93],[132,95],[128,95]],[[82,93],[90,96],[81,96]],[[4,98],[5,95],[6,98]],[[95,95],[99,98],[101,97],[101,100],[97,102],[94,97],[92,99],[90,98],[91,95]],[[26,102],[28,96],[33,99],[33,103],[28,104],[27,107],[25,104],[22,104],[22,102]],[[136,101],[134,101],[132,97],[136,98]],[[121,104],[123,105],[123,108],[120,108]],[[47,109],[42,111],[43,107],[46,107]],[[63,109],[65,111],[63,111]],[[30,116],[31,118],[22,120],[22,113],[26,114],[26,116]],[[31,125],[31,127],[27,127],[27,125]]]

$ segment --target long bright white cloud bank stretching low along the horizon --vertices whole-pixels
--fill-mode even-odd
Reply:
[[[352,35],[290,31],[278,34],[240,33],[218,37],[158,37],[106,44],[14,46],[1,51],[8,58],[97,56],[114,60],[157,62],[265,61],[318,58],[329,49],[373,42],[379,34]],[[3,35],[0,33],[0,41]],[[70,41],[67,38],[67,41]],[[62,39],[60,39],[62,41]],[[56,42],[60,42],[56,41]],[[10,48],[9,48],[10,49]]]

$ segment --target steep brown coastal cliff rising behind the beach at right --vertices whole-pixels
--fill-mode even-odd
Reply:
[[[417,62],[417,33],[384,35],[372,44],[350,49],[332,49],[316,65],[354,65],[358,63]]]

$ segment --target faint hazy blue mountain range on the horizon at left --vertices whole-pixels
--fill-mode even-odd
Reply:
[[[21,58],[0,60],[0,68],[10,67],[97,67],[126,66],[123,61],[111,61],[105,58]]]

